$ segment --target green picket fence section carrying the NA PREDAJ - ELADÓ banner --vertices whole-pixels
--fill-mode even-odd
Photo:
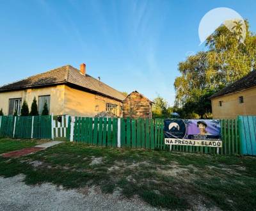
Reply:
[[[221,120],[221,137],[223,147],[208,146],[170,146],[164,144],[163,119],[129,118],[121,120],[121,146],[129,148],[146,148],[152,150],[173,150],[177,152],[219,153],[223,155],[239,154],[239,134],[237,120]]]

